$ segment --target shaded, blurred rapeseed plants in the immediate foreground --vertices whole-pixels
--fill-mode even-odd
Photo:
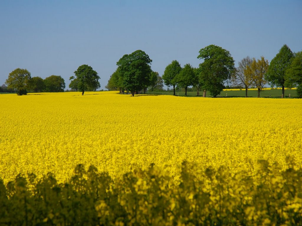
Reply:
[[[94,166],[75,168],[59,184],[53,174],[0,180],[2,225],[298,225],[302,170],[259,160],[255,176],[221,167],[200,171],[183,162],[175,182],[151,164],[113,180]],[[197,174],[194,172],[198,172]]]

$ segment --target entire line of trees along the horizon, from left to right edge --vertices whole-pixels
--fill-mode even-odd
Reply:
[[[192,67],[185,64],[181,67],[177,60],[173,60],[165,67],[162,76],[158,72],[152,71],[152,60],[142,50],[137,50],[131,54],[125,54],[117,61],[117,69],[110,76],[107,85],[108,90],[119,90],[120,93],[130,92],[131,96],[136,93],[146,93],[147,90],[163,90],[163,84],[175,88],[184,88],[185,96],[187,89],[194,86],[206,96],[207,91],[211,96],[217,97],[226,87],[225,84],[240,86],[246,89],[256,87],[258,97],[265,85],[271,87],[284,88],[297,87],[297,95],[302,97],[302,51],[294,53],[284,45],[278,54],[269,63],[261,56],[259,59],[243,58],[234,66],[234,59],[230,52],[220,46],[209,45],[200,49],[198,59],[203,62],[199,67]],[[73,91],[80,91],[84,95],[85,91],[95,91],[100,88],[98,73],[87,64],[81,65],[74,76],[71,76],[69,88]],[[27,92],[63,92],[65,82],[61,76],[52,75],[44,80],[40,77],[31,77],[26,69],[17,68],[12,71],[5,84],[7,90],[14,90],[18,95]]]

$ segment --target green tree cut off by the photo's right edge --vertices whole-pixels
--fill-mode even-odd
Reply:
[[[285,71],[285,85],[297,87],[297,95],[302,97],[302,51],[297,52]]]

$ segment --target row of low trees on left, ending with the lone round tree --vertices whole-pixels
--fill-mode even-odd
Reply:
[[[69,88],[74,91],[80,90],[82,95],[85,91],[95,91],[100,88],[98,73],[92,67],[83,64],[75,72],[75,76],[70,77]],[[51,75],[45,79],[41,77],[31,77],[27,69],[17,68],[8,75],[5,81],[7,86],[1,88],[6,91],[15,92],[17,95],[26,95],[28,92],[64,92],[65,81],[61,76]],[[0,91],[2,91],[2,89]]]

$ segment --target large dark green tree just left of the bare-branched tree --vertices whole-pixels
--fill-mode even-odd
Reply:
[[[204,59],[204,62],[199,64],[204,89],[216,97],[224,89],[224,82],[230,79],[235,71],[234,59],[229,51],[215,45],[201,49],[197,58]]]

